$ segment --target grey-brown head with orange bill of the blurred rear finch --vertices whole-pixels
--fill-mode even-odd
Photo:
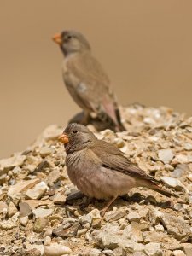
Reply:
[[[64,55],[90,50],[89,42],[80,32],[66,30],[55,34],[53,40],[60,45]]]

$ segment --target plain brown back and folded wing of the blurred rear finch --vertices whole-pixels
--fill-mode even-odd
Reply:
[[[67,61],[66,84],[73,84],[79,102],[85,108],[98,114],[108,115],[118,124],[116,116],[117,103],[110,82],[102,66],[91,55],[78,55]]]

